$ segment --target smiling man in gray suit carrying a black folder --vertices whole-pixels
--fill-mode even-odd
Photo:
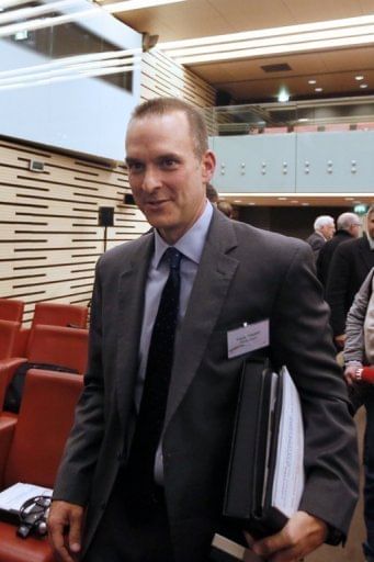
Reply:
[[[252,349],[265,345],[275,368],[286,363],[297,385],[306,471],[299,510],[252,548],[267,560],[294,562],[324,541],[339,543],[358,495],[356,442],[309,246],[213,209],[205,186],[215,156],[202,116],[186,103],[139,105],[126,153],[134,198],[154,232],[98,262],[84,390],[49,515],[55,551],[65,562],[207,562],[215,532],[243,540],[222,508],[248,340]],[[169,272],[170,247],[179,258]],[[177,270],[177,333],[159,348],[161,371],[170,351],[173,361],[151,486],[144,488],[148,467],[134,458],[138,449],[141,458],[140,426],[152,415],[144,407],[157,394],[148,392],[149,362],[155,331],[169,334],[172,323],[158,318]],[[233,338],[237,353],[229,351]],[[154,440],[149,424],[148,431]]]

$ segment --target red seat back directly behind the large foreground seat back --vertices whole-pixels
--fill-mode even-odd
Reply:
[[[87,366],[88,330],[36,325],[30,335],[27,360],[66,367],[83,373]]]

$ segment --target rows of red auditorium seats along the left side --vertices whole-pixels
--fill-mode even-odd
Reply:
[[[87,313],[83,306],[37,303],[31,327],[22,328],[23,303],[0,299],[0,412],[10,381],[26,361],[84,372]],[[77,374],[29,370],[19,414],[0,413],[0,491],[18,482],[54,486],[82,383]],[[0,562],[54,560],[46,539],[22,539],[15,530],[0,521]]]

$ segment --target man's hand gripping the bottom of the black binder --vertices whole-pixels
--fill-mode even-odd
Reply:
[[[252,543],[252,551],[270,562],[297,562],[327,537],[327,525],[305,512],[297,512],[277,533]]]

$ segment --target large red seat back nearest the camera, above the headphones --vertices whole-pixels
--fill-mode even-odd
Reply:
[[[16,482],[54,486],[82,384],[75,374],[29,372],[3,487]]]

